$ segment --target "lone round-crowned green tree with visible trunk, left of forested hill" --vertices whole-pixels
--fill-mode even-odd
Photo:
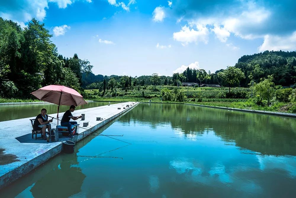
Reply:
[[[229,93],[230,88],[234,85],[238,85],[239,81],[244,78],[242,70],[233,66],[228,66],[227,69],[223,72],[219,72],[217,75],[228,84]]]

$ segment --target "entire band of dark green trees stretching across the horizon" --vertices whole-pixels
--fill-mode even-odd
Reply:
[[[30,93],[50,84],[61,84],[78,90],[117,88],[139,89],[139,86],[173,85],[184,82],[219,84],[229,87],[248,87],[260,83],[268,76],[274,85],[289,86],[296,80],[296,52],[265,51],[239,58],[235,66],[215,72],[187,68],[172,76],[157,73],[139,77],[103,76],[91,72],[93,66],[77,54],[66,58],[57,52],[49,30],[44,24],[32,19],[21,28],[11,20],[0,18],[0,96],[28,98]]]

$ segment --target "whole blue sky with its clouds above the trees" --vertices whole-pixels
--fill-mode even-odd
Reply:
[[[188,66],[215,72],[247,54],[296,50],[293,1],[0,0],[0,16],[35,17],[66,57],[93,73],[171,76]]]

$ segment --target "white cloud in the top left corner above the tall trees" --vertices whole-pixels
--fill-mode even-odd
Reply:
[[[85,1],[91,2],[91,0]],[[66,8],[74,0],[11,0],[8,3],[0,3],[0,16],[4,19],[16,21],[23,27],[32,18],[44,20],[46,9],[49,9],[49,2],[57,4],[59,8]]]

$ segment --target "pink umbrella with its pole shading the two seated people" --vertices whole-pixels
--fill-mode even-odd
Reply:
[[[58,105],[75,105],[87,104],[77,91],[63,85],[48,85],[31,93],[38,99],[51,102]],[[57,118],[59,117],[59,106],[57,107]],[[59,120],[57,121],[59,124]]]

